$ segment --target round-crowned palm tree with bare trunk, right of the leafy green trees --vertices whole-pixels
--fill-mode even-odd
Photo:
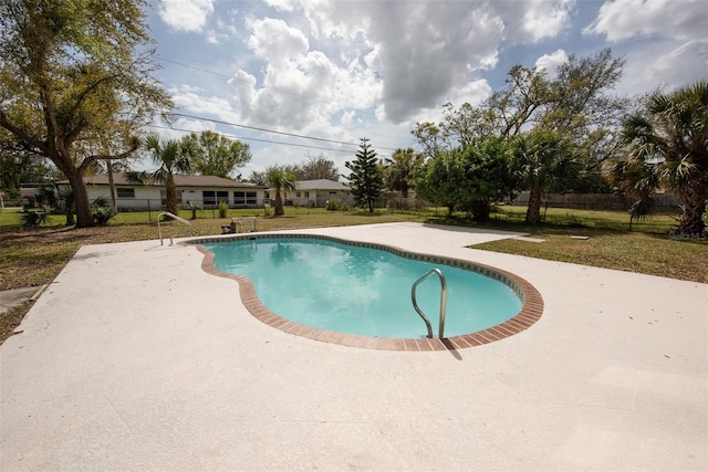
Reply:
[[[571,140],[553,130],[535,128],[514,140],[513,155],[518,177],[529,190],[525,222],[535,224],[541,219],[543,193],[565,190],[580,172]]]

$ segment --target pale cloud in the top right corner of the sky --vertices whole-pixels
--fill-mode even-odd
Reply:
[[[705,38],[708,7],[705,0],[614,0],[605,2],[585,34],[605,34],[608,41],[657,34],[686,40]]]

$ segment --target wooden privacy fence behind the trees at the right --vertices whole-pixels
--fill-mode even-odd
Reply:
[[[541,201],[542,206],[548,206],[549,208],[575,208],[580,210],[627,211],[632,206],[631,199],[623,199],[613,193],[545,193]],[[529,192],[521,192],[511,204],[527,207],[529,204]],[[655,193],[654,211],[676,213],[680,211],[679,201],[673,193]]]

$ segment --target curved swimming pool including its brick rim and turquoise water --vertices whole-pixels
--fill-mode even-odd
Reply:
[[[313,235],[261,234],[191,243],[202,245],[209,259],[205,269],[243,285],[242,300],[251,314],[283,331],[340,344],[354,338],[358,345],[379,347],[356,338],[407,339],[426,349],[430,340],[424,340],[427,332],[410,302],[410,286],[431,268],[439,268],[447,279],[445,334],[459,347],[525,329],[542,310],[540,295],[525,281],[468,261]],[[530,306],[528,292],[533,295]],[[417,294],[437,333],[439,282],[429,279]]]

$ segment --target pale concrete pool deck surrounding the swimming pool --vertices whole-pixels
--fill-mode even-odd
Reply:
[[[258,322],[192,247],[87,245],[0,346],[0,470],[708,468],[708,285],[465,248],[508,233],[290,232],[494,265],[544,313],[475,348],[367,350]]]

